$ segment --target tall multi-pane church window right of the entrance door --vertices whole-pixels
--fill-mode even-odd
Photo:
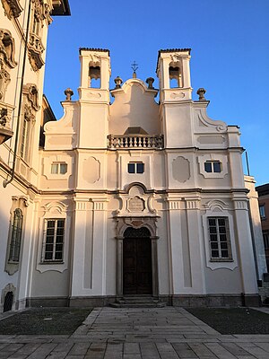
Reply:
[[[207,220],[211,259],[231,259],[228,218],[208,217]]]

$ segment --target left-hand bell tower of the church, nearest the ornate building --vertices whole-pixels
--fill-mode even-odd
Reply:
[[[79,146],[104,148],[108,136],[109,50],[80,48],[81,85]]]

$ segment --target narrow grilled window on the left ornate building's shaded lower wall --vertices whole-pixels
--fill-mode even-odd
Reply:
[[[10,262],[19,262],[22,241],[22,210],[16,208],[13,213],[12,235],[10,241],[10,250],[8,260]]]

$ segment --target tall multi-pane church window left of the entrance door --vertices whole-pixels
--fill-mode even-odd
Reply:
[[[42,250],[42,262],[63,261],[65,240],[65,219],[48,219]]]

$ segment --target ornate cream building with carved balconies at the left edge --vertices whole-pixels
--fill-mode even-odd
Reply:
[[[4,311],[23,307],[30,290],[48,26],[51,16],[68,14],[67,0],[0,1],[0,293]]]

